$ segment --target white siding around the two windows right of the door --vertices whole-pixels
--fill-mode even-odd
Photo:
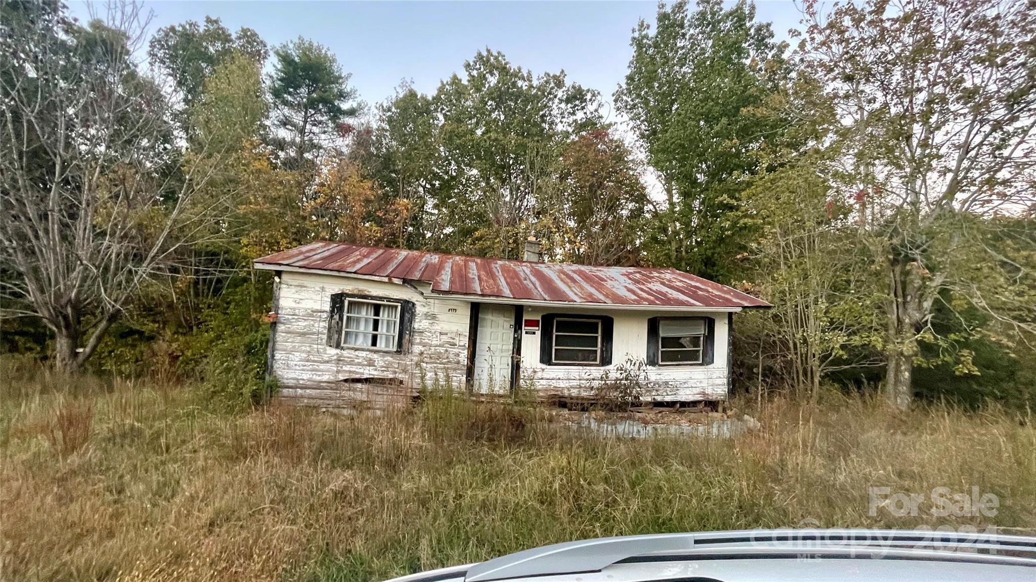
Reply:
[[[540,363],[540,340],[544,332],[522,332],[523,385],[531,385],[539,396],[557,395],[571,397],[592,396],[595,383],[604,371],[614,378],[616,368],[627,357],[645,360],[648,357],[648,319],[652,317],[712,317],[716,320],[713,363],[709,366],[648,367],[646,397],[657,401],[718,401],[727,398],[726,368],[727,328],[726,313],[671,313],[666,311],[628,311],[601,309],[565,309],[526,307],[523,319],[540,319],[548,313],[605,315],[613,318],[611,366],[592,368],[585,366],[546,366]]]

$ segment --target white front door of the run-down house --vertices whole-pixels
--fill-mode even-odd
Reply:
[[[507,392],[511,389],[514,325],[513,305],[479,305],[479,330],[474,342],[474,391],[489,394]]]

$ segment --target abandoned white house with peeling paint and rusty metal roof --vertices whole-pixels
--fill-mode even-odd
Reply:
[[[450,384],[589,398],[721,401],[732,315],[769,308],[674,269],[595,267],[313,242],[256,260],[277,273],[269,373],[281,397],[347,406]]]

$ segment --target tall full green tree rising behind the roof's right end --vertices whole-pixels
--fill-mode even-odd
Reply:
[[[658,172],[666,205],[649,238],[654,262],[729,279],[749,239],[743,193],[757,153],[783,136],[770,113],[787,74],[785,46],[744,1],[659,5],[634,31],[615,93]]]

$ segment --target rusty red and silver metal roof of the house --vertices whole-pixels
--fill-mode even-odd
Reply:
[[[596,267],[311,242],[261,259],[289,267],[422,281],[442,294],[658,308],[769,308],[737,289],[671,268]]]

